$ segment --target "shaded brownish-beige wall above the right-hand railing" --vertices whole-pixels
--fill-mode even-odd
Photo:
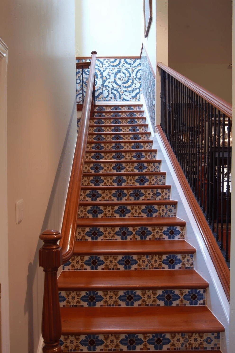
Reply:
[[[232,0],[169,0],[169,66],[231,103]]]

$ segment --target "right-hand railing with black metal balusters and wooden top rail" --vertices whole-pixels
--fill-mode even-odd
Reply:
[[[231,234],[231,105],[168,66],[160,62],[157,66],[161,68],[161,128],[228,262]],[[220,279],[223,281],[226,277],[224,289],[228,296],[229,272],[218,264],[221,258],[218,258],[215,249],[211,249],[211,241],[205,239],[205,242]]]

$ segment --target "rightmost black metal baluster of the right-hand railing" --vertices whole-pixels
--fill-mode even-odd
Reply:
[[[228,245],[229,245],[229,216],[230,210],[230,134],[231,120],[228,118],[228,168],[227,168],[227,187],[226,187],[226,246],[225,246],[225,261],[229,261]]]

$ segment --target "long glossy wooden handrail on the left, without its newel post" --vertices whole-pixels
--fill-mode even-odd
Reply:
[[[97,52],[92,52],[91,67],[87,82],[86,96],[82,109],[82,116],[79,125],[79,132],[74,152],[72,171],[69,181],[64,217],[62,223],[62,247],[63,263],[67,262],[73,255],[74,240],[77,226],[79,196],[81,192],[82,170],[84,166],[88,124],[91,113],[92,91],[95,74],[95,59]]]

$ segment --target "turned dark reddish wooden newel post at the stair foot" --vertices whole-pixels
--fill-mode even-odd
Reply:
[[[42,309],[43,353],[60,353],[61,337],[60,303],[58,297],[57,271],[62,265],[62,248],[57,241],[62,235],[57,231],[45,231],[39,238],[44,245],[39,249],[39,266],[43,267],[44,295]]]

